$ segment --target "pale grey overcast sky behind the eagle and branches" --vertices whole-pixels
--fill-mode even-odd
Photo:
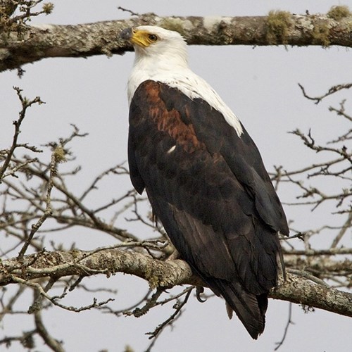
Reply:
[[[352,1],[295,0],[295,1],[92,1],[61,0],[55,4],[54,13],[33,20],[33,23],[76,24],[99,20],[127,18],[127,13],[118,11],[118,6],[130,8],[137,13],[153,12],[158,15],[265,15],[272,9],[282,9],[292,13],[326,13],[332,5],[347,4]],[[315,135],[324,140],[332,134],[334,120],[327,106],[347,98],[351,92],[344,92],[338,99],[330,99],[319,106],[303,99],[298,82],[312,95],[320,95],[333,84],[352,82],[351,51],[344,48],[320,47],[289,48],[228,46],[189,48],[191,67],[204,77],[218,91],[220,96],[234,110],[251,134],[268,170],[272,165],[296,168],[307,165],[311,156],[296,137],[287,132],[299,127],[307,132],[313,128]],[[23,89],[26,96],[41,96],[44,106],[36,106],[23,125],[21,138],[31,144],[44,144],[71,132],[74,123],[89,136],[73,144],[77,163],[83,166],[83,177],[70,183],[77,192],[102,170],[115,163],[127,160],[127,77],[132,67],[134,54],[113,58],[52,58],[25,65],[24,77],[19,80],[16,72],[1,73],[0,103],[1,129],[0,148],[11,144],[13,125],[19,104],[13,86]],[[348,96],[349,95],[349,96]],[[350,97],[351,100],[351,97]],[[347,103],[347,107],[351,103]],[[339,129],[340,127],[336,127]],[[81,176],[82,177],[82,176]],[[110,184],[106,191],[114,192]],[[121,189],[130,188],[125,181],[116,185],[117,194]],[[279,194],[282,201],[289,195]],[[108,199],[110,198],[110,195]],[[106,194],[96,194],[103,201]],[[304,230],[312,221],[319,223],[322,213],[286,208],[287,217],[294,219],[297,227]],[[298,218],[299,216],[299,218]],[[118,224],[119,225],[119,224]],[[127,226],[127,225],[121,225]],[[95,246],[113,244],[111,237],[76,234],[78,248],[93,249]],[[65,239],[62,241],[72,241]],[[101,279],[101,278],[99,278]],[[103,278],[105,279],[105,278]],[[94,280],[89,285],[93,287]],[[108,280],[111,287],[118,289],[114,308],[127,307],[134,297],[141,297],[147,287],[140,279],[115,275]],[[98,282],[98,281],[97,281]],[[73,302],[81,302],[78,293],[73,292]],[[100,298],[99,298],[100,299]],[[101,300],[104,297],[101,298]],[[171,308],[153,309],[143,318],[119,318],[99,312],[68,313],[53,310],[44,313],[54,337],[65,341],[67,351],[123,351],[126,344],[134,350],[144,351],[149,344],[144,335],[156,327],[170,314]],[[289,303],[270,300],[267,325],[263,336],[252,341],[237,318],[227,319],[225,303],[220,298],[211,298],[199,303],[195,298],[187,306],[182,318],[175,322],[172,332],[167,329],[158,339],[153,351],[272,351],[275,342],[282,338],[287,322]],[[303,313],[294,306],[294,325],[284,346],[279,351],[351,351],[351,320],[332,313],[316,310]],[[4,333],[12,320],[4,320]],[[14,323],[13,323],[14,324]],[[30,325],[27,325],[28,327]],[[19,331],[26,329],[18,326]],[[78,338],[79,334],[83,334]],[[80,335],[82,336],[82,335]],[[42,346],[40,351],[47,351]],[[15,349],[14,349],[15,351]]]

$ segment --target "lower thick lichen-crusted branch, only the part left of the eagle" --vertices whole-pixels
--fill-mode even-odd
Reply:
[[[120,249],[94,249],[94,251],[53,251],[25,256],[23,264],[17,258],[0,263],[0,285],[20,279],[69,275],[82,277],[116,272],[142,277],[151,287],[173,287],[177,284],[194,282],[191,269],[183,260],[163,262],[143,253],[121,251]],[[14,275],[14,276],[13,276]]]

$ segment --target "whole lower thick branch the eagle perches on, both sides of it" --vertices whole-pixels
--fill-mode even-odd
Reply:
[[[183,260],[161,261],[143,253],[114,248],[42,252],[25,256],[22,263],[17,258],[3,260],[0,266],[0,284],[14,283],[18,279],[28,282],[43,277],[59,279],[68,275],[110,276],[116,272],[142,277],[153,288],[201,284]],[[352,317],[352,294],[317,284],[299,275],[288,273],[287,281],[279,282],[279,287],[270,296]]]

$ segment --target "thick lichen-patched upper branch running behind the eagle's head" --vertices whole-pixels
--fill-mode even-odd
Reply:
[[[125,27],[160,25],[177,30],[189,44],[339,45],[352,47],[352,16],[293,15],[284,11],[253,17],[159,17],[154,14],[83,25],[23,26],[0,36],[0,71],[49,57],[123,54],[132,50],[120,39]]]

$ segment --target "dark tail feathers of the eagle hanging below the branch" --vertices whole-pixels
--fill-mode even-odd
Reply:
[[[265,312],[268,308],[267,293],[256,296],[245,291],[239,282],[220,279],[212,282],[210,288],[225,298],[227,305],[234,310],[253,339],[263,333]]]

